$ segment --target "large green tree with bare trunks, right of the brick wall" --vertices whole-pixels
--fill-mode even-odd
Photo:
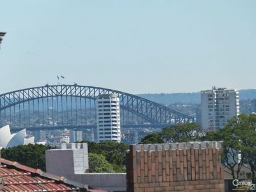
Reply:
[[[222,163],[230,169],[233,178],[239,178],[241,167],[249,166],[251,180],[256,183],[256,115],[238,115],[218,131],[207,133],[202,140],[224,141]],[[238,160],[238,154],[241,160]]]

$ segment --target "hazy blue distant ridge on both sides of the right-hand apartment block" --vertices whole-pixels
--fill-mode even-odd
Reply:
[[[139,97],[161,103],[163,105],[170,105],[172,103],[200,103],[200,92],[195,93],[147,93],[138,94]],[[242,89],[239,90],[240,99],[255,99],[256,89]]]

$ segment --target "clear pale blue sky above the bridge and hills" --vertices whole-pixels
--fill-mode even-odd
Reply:
[[[0,0],[0,94],[47,83],[128,93],[256,88],[256,1]]]

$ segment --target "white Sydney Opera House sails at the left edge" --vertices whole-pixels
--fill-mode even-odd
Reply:
[[[17,145],[34,144],[34,137],[26,137],[26,129],[11,134],[9,125],[0,128],[0,147],[9,148]]]

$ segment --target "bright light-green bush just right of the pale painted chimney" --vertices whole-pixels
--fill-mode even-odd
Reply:
[[[89,172],[90,173],[114,173],[110,164],[103,155],[89,153]]]

